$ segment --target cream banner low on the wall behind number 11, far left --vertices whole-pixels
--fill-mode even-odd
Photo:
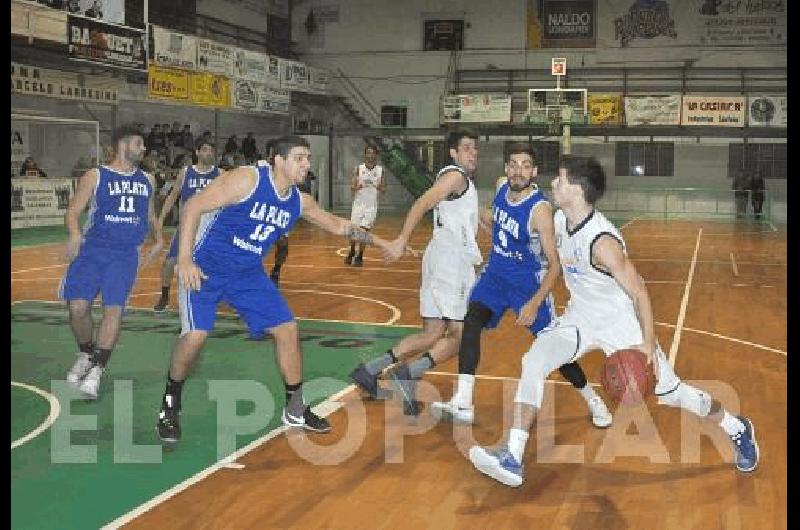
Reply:
[[[11,228],[63,224],[73,193],[72,179],[11,179]]]

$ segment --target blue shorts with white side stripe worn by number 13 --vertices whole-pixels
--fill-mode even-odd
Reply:
[[[198,291],[178,282],[181,335],[213,330],[220,302],[236,311],[252,337],[262,337],[266,330],[294,320],[283,295],[262,267],[237,274],[204,272],[208,279]]]

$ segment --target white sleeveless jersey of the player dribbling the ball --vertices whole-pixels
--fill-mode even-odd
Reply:
[[[617,239],[627,254],[619,230],[597,210],[592,210],[571,232],[562,210],[555,213],[553,223],[558,257],[570,293],[567,311],[580,314],[595,326],[618,319],[621,312],[635,315],[633,301],[613,276],[592,264],[592,247],[604,234]]]

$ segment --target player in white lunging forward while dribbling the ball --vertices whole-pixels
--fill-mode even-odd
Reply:
[[[605,186],[606,176],[596,159],[562,157],[558,177],[553,180],[553,198],[560,208],[554,224],[569,303],[523,357],[506,444],[498,450],[474,446],[470,460],[479,471],[507,486],[521,485],[522,456],[542,404],[547,376],[592,349],[610,355],[635,348],[644,352],[648,363],[654,363],[658,402],[720,425],[733,442],[736,468],[755,470],[759,453],[752,422],[732,416],[706,392],[682,382],[658,346],[644,280],[628,259],[619,231],[594,209]]]

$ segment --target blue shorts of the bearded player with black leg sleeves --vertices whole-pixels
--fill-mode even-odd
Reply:
[[[542,276],[544,271],[542,271]],[[486,324],[487,329],[497,327],[503,313],[511,309],[519,315],[522,306],[527,304],[539,290],[538,276],[508,277],[490,269],[488,266],[478,276],[475,286],[469,295],[469,301],[480,302],[492,311],[492,319]],[[528,329],[536,334],[546,328],[555,317],[552,295],[548,295],[539,305],[536,318]]]

